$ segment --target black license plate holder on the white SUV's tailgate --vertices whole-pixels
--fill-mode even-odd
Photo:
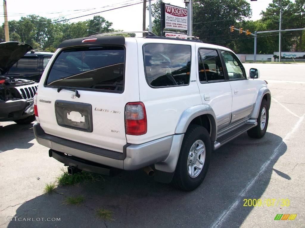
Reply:
[[[92,105],[81,102],[55,101],[55,116],[59,126],[92,132]]]

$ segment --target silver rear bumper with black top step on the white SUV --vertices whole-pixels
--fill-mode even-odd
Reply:
[[[35,123],[33,129],[35,138],[39,144],[48,147],[55,152],[60,152],[57,153],[57,155],[63,153],[71,155],[68,157],[61,156],[60,159],[57,159],[58,156],[56,153],[54,156],[57,157],[52,156],[64,164],[71,163],[71,160],[77,160],[77,164],[79,164],[79,162],[94,162],[124,170],[136,170],[164,161],[170,154],[174,138],[174,136],[167,136],[138,145],[126,144],[123,147],[123,153],[120,153],[46,134],[39,123]],[[78,160],[78,158],[84,161],[82,162],[81,160]]]

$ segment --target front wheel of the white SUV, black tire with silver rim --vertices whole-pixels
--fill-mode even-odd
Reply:
[[[257,118],[257,126],[248,130],[247,131],[248,135],[252,138],[257,138],[257,139],[263,137],[267,131],[268,120],[269,120],[269,109],[268,109],[267,101],[263,99],[260,105],[260,113]]]

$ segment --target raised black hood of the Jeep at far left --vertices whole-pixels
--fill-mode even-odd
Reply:
[[[33,48],[27,43],[3,42],[0,43],[0,75],[9,69]]]

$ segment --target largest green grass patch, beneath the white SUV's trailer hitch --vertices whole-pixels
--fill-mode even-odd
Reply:
[[[57,182],[61,186],[71,186],[79,184],[83,181],[94,182],[98,181],[99,178],[92,175],[92,173],[81,171],[81,173],[76,173],[74,175],[69,175],[68,172],[63,172],[60,177],[57,178]]]

